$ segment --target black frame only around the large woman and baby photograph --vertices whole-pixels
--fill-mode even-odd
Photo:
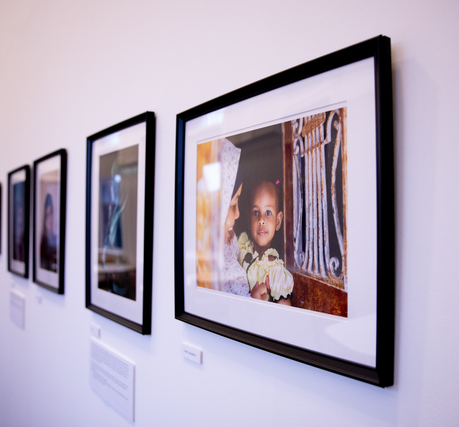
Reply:
[[[184,185],[187,121],[287,84],[366,58],[375,64],[376,140],[376,366],[320,354],[229,327],[185,311]],[[177,115],[175,181],[175,318],[286,358],[380,387],[393,384],[394,369],[394,174],[391,42],[378,36],[248,84]]]

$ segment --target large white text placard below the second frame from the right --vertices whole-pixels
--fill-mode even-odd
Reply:
[[[91,338],[91,387],[129,421],[134,421],[134,375],[134,362]]]

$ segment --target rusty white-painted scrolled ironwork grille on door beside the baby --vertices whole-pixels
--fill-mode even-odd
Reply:
[[[291,121],[293,132],[293,247],[299,272],[331,286],[347,290],[346,245],[344,215],[346,211],[345,174],[343,174],[343,231],[336,199],[336,168],[341,150],[343,171],[343,118],[340,110],[330,111],[325,123],[325,112]],[[324,126],[326,136],[324,137]],[[336,129],[332,141],[331,127]],[[325,145],[333,147],[331,182],[327,185]],[[330,169],[329,169],[330,170]],[[333,223],[329,230],[327,189],[330,188]],[[304,200],[304,203],[303,203]],[[303,245],[303,206],[305,233]],[[340,261],[330,258],[329,232],[335,233],[341,252],[341,273],[337,275]],[[304,247],[304,250],[303,250]]]

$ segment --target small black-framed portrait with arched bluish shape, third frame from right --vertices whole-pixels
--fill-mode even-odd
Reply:
[[[64,293],[67,152],[52,152],[34,162],[33,280]]]

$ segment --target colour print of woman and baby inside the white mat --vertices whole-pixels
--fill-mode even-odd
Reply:
[[[198,287],[347,317],[346,111],[198,144]]]

